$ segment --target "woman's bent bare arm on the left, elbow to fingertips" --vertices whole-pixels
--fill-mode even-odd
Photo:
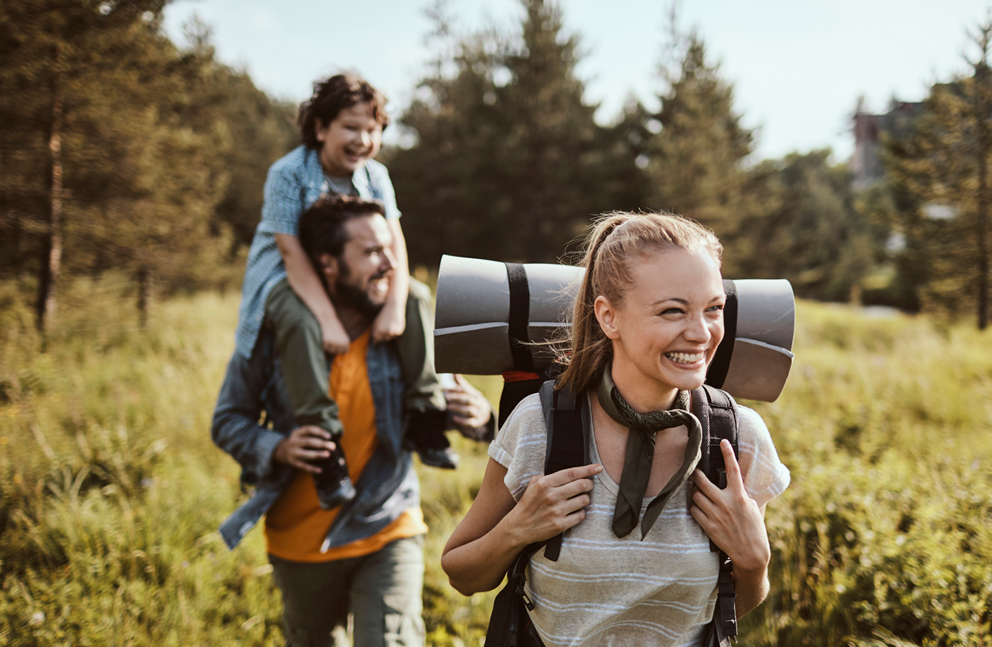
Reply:
[[[551,539],[583,518],[600,465],[569,468],[534,477],[519,502],[503,483],[506,468],[489,459],[479,493],[451,533],[440,565],[451,586],[471,595],[499,586],[528,544]]]

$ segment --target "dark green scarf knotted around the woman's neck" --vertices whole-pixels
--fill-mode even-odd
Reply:
[[[648,508],[644,511],[644,518],[641,520],[643,540],[669,499],[682,485],[685,485],[699,462],[702,456],[700,450],[702,427],[699,426],[696,417],[688,411],[688,391],[679,391],[671,409],[638,413],[617,390],[611,374],[612,367],[607,366],[596,390],[599,404],[607,415],[630,429],[627,435],[627,454],[624,458],[623,474],[620,476],[620,493],[617,495],[616,508],[613,510],[613,533],[617,537],[625,537],[637,527],[644,490],[648,487],[651,464],[655,459],[655,432],[682,425],[688,430],[688,443],[685,445],[682,468],[669,480],[658,496],[648,503]]]

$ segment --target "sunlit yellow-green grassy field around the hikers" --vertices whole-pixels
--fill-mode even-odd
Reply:
[[[159,304],[66,290],[33,331],[0,286],[0,645],[281,645],[261,532],[209,439],[237,295]],[[992,645],[992,340],[966,327],[803,303],[780,400],[755,404],[792,470],[768,510],[773,592],[743,645]],[[498,397],[498,381],[476,383]],[[454,593],[440,547],[485,448],[421,469],[434,645],[479,645],[491,594]]]

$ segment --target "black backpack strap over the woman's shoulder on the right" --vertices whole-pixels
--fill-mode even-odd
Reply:
[[[730,441],[734,449],[734,457],[740,459],[737,441],[737,429],[740,414],[737,402],[730,393],[703,384],[692,391],[692,413],[699,419],[702,427],[702,457],[699,459],[699,470],[706,475],[710,482],[720,489],[727,486],[727,468],[720,450],[720,441],[724,438]],[[737,635],[737,610],[734,605],[733,563],[727,554],[721,551],[710,540],[709,550],[719,553],[720,573],[717,578],[716,608],[713,611],[713,623],[717,642],[724,638]]]

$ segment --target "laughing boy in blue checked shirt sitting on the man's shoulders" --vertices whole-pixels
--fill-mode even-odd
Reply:
[[[399,338],[397,348],[407,381],[415,384],[404,398],[408,408],[418,412],[411,418],[408,438],[426,465],[453,469],[457,456],[443,435],[445,404],[433,368],[433,324],[424,321],[430,310],[416,298],[407,302],[410,273],[400,211],[386,167],[373,161],[382,144],[382,131],[389,125],[385,103],[382,93],[354,73],[337,74],[314,83],[313,95],[300,107],[298,123],[303,145],[269,169],[262,222],[255,232],[245,271],[237,350],[251,357],[263,325],[275,329],[280,353],[290,347],[322,346],[330,355],[348,349],[348,336],[297,237],[300,214],[330,192],[382,202],[397,264],[386,303],[373,322],[371,341]],[[271,303],[269,296],[282,280],[288,280],[317,319],[322,339],[297,339],[300,326],[271,311],[278,304]],[[296,394],[293,407],[297,422],[323,427],[336,440],[342,429],[337,405],[328,395],[327,366],[310,364],[306,375],[286,376],[288,383],[294,382],[290,392]],[[354,495],[339,447],[317,467],[321,474],[314,479],[321,506],[329,509]]]

